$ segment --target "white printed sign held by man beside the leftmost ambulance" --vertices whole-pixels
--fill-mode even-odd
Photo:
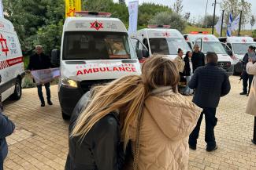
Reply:
[[[42,85],[47,82],[53,81],[54,78],[58,78],[61,74],[59,68],[31,71],[31,73],[36,85]]]

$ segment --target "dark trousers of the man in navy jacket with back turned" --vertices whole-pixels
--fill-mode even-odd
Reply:
[[[198,123],[195,126],[193,132],[191,132],[191,135],[189,136],[188,143],[191,146],[196,146],[197,139],[199,136],[200,126],[201,126],[201,122],[202,122],[202,116],[203,116],[203,114],[205,114],[205,119],[206,119],[205,141],[207,143],[208,148],[214,148],[216,146],[215,136],[214,136],[214,126],[217,125],[217,118],[215,118],[216,108],[205,107],[202,109],[203,110],[200,115],[200,118],[198,119]]]

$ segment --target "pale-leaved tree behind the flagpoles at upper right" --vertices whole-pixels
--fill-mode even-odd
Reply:
[[[223,0],[221,2],[221,10],[224,10],[224,16],[226,16],[225,23],[228,24],[229,13],[232,12],[233,18],[239,15],[240,11],[243,11],[242,25],[250,22],[251,16],[251,4],[244,0]]]

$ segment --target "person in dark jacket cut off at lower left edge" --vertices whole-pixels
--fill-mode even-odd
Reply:
[[[0,112],[0,170],[3,170],[3,161],[8,153],[6,137],[13,133],[14,128],[13,122]]]

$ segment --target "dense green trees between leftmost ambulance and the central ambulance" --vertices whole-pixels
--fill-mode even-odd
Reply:
[[[64,22],[65,4],[62,0],[4,0],[3,4],[6,7],[6,18],[13,23],[17,31],[24,56],[30,55],[36,44],[46,42],[41,39],[44,37],[39,36],[39,33],[45,34],[46,31],[46,34],[52,37],[45,38],[54,38],[55,34],[49,34],[49,29],[46,27],[62,25]],[[43,29],[40,30],[41,28]],[[50,31],[55,30],[50,29]],[[58,31],[62,31],[62,27],[58,27]],[[41,45],[48,46],[48,44]],[[45,52],[48,54],[49,50],[46,48]]]

